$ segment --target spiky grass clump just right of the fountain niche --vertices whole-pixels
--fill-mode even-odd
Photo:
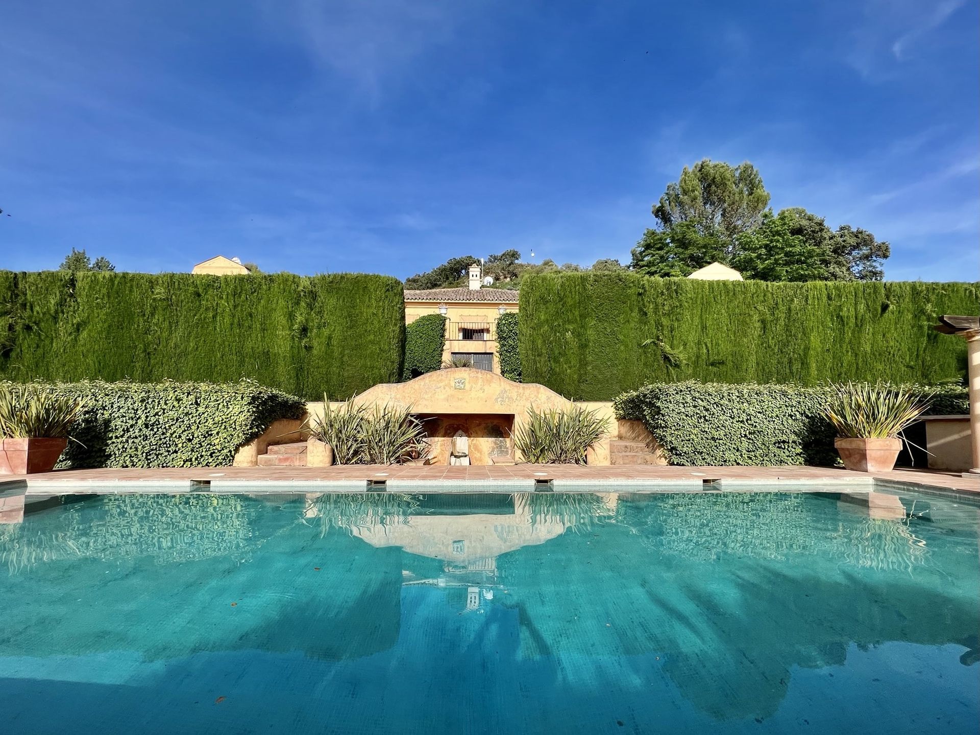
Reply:
[[[606,434],[606,425],[607,419],[581,406],[543,411],[532,406],[514,442],[525,462],[585,464],[586,452]]]

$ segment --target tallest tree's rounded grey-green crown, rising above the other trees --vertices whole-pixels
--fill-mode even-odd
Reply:
[[[769,192],[751,163],[733,167],[705,158],[667,184],[653,213],[663,230],[690,222],[702,235],[733,240],[760,224],[768,204]]]

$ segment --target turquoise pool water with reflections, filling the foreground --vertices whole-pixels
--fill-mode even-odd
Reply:
[[[955,497],[27,500],[0,513],[5,735],[980,722]]]

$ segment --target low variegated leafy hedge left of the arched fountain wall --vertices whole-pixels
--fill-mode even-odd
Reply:
[[[41,383],[85,401],[59,467],[224,467],[276,419],[302,418],[293,395],[240,383]]]

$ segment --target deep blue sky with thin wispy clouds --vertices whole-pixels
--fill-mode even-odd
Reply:
[[[702,157],[980,280],[967,0],[7,0],[0,268],[629,260]]]

